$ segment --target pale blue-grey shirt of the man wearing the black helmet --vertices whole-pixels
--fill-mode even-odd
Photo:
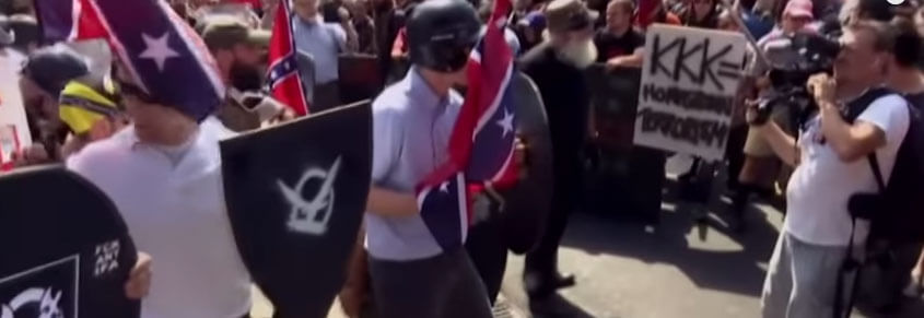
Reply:
[[[463,97],[437,96],[416,68],[372,104],[372,182],[413,195],[418,184],[448,156],[449,136]],[[443,250],[419,214],[366,213],[366,249],[376,259],[414,260]]]

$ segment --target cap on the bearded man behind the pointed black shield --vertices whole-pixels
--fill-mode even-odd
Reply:
[[[270,32],[249,27],[234,15],[217,14],[201,21],[200,34],[209,49],[231,48],[238,44],[269,46]]]

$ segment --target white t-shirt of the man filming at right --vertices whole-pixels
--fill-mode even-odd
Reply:
[[[856,120],[886,133],[886,145],[876,150],[876,156],[888,182],[910,125],[908,102],[896,94],[879,97]],[[820,117],[806,126],[798,141],[802,160],[786,190],[784,229],[805,243],[846,246],[851,232],[847,200],[854,193],[878,192],[879,186],[865,156],[845,163],[829,143],[820,142]],[[862,244],[868,234],[869,223],[857,220],[854,243]]]

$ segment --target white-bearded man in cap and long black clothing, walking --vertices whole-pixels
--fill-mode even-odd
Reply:
[[[558,247],[581,192],[580,154],[589,107],[583,70],[597,59],[592,40],[596,12],[578,0],[554,0],[546,7],[545,14],[545,42],[521,60],[523,71],[539,86],[554,150],[552,211],[539,245],[526,257],[524,271],[525,286],[534,297],[574,284],[573,276],[558,271]]]

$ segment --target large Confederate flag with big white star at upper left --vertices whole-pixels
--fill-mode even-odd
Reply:
[[[72,39],[106,38],[121,67],[159,103],[202,120],[225,87],[202,39],[163,0],[74,0]]]

